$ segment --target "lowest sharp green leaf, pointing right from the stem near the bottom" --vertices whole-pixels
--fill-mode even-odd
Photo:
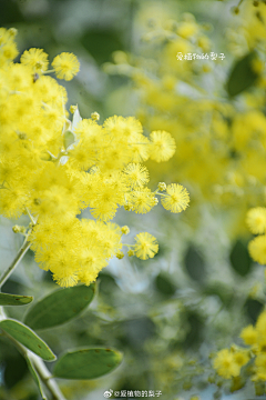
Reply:
[[[53,376],[64,379],[95,379],[111,372],[122,361],[122,353],[111,349],[68,351],[55,363]]]

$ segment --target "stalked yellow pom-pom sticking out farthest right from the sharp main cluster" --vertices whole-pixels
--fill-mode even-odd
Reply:
[[[190,194],[187,190],[178,183],[168,184],[166,193],[161,202],[166,210],[172,212],[181,212],[185,210],[190,202]],[[162,194],[161,194],[162,196]]]

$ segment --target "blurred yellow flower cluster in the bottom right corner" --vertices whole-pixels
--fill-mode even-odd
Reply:
[[[254,326],[249,324],[241,332],[246,348],[233,344],[231,349],[217,352],[214,359],[214,368],[217,373],[225,378],[236,378],[243,372],[242,367],[250,360],[247,374],[253,381],[266,381],[266,311],[264,310]]]

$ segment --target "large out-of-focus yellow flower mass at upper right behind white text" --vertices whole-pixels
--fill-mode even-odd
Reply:
[[[225,50],[217,49],[209,38],[212,27],[198,23],[187,12],[175,21],[167,9],[149,4],[139,17],[143,39],[135,51],[139,54],[116,51],[114,62],[105,64],[109,73],[125,74],[133,81],[137,116],[144,127],[166,130],[176,141],[175,156],[167,166],[152,166],[157,179],[164,180],[166,174],[173,181],[188,182],[196,193],[195,204],[207,200],[223,208],[235,207],[234,218],[239,221],[247,208],[262,203],[265,196],[266,74],[262,49],[266,36],[257,12],[245,1],[239,16],[232,14],[232,28],[228,23],[225,32],[229,52],[221,59],[218,51]],[[259,12],[265,20],[265,4]],[[253,49],[258,54],[250,67],[257,73],[256,89],[244,93],[239,102],[231,101],[225,88],[232,54],[239,58]],[[204,60],[194,57],[201,53],[206,54]]]

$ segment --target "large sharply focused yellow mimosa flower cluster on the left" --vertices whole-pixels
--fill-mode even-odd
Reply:
[[[147,138],[133,117],[111,117],[100,126],[94,112],[82,120],[75,106],[70,121],[66,90],[47,73],[72,79],[80,68],[76,57],[59,54],[48,70],[48,54],[30,49],[14,63],[14,29],[0,30],[0,212],[28,213],[29,227],[13,230],[27,236],[37,262],[59,284],[90,284],[111,257],[123,257],[121,238],[129,228],[110,222],[119,207],[146,213],[156,196],[172,212],[187,207],[181,184],[146,187],[143,162],[168,160],[175,141],[163,130]],[[94,220],[76,218],[88,207]],[[126,246],[130,256],[143,260],[158,249],[150,233]]]

